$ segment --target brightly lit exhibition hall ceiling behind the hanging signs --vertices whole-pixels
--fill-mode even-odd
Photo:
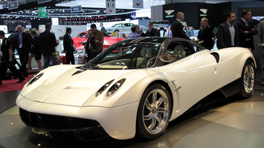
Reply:
[[[13,0],[0,0],[1,19],[17,19],[20,17],[38,17],[38,7],[47,7],[47,17],[82,17],[95,15],[106,15],[106,0],[50,0],[47,3],[38,4],[38,0],[17,0],[18,8],[8,10],[8,3]],[[43,1],[43,0],[42,0]],[[48,1],[48,0],[47,0]],[[116,14],[134,13],[133,0],[111,0],[116,1]],[[168,3],[169,0],[143,0],[143,9],[150,12],[151,6],[160,6]],[[171,0],[169,2],[205,2],[205,3],[223,3],[231,2],[231,0]],[[232,0],[232,1],[254,1],[254,0]],[[80,6],[81,12],[70,13],[71,6]],[[25,19],[25,18],[24,18]]]

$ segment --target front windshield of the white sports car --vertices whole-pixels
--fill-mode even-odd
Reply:
[[[103,51],[81,69],[140,69],[146,67],[147,63],[151,67],[156,60],[153,57],[157,56],[161,45],[120,42]]]

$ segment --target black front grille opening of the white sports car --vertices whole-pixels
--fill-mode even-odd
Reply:
[[[20,118],[24,124],[31,127],[30,129],[49,131],[52,135],[72,133],[79,140],[93,140],[107,136],[102,126],[95,120],[30,113],[22,108],[20,108]]]

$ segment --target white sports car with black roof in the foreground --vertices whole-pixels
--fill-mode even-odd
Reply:
[[[40,135],[153,139],[171,120],[214,101],[213,94],[251,97],[255,67],[246,48],[210,51],[180,38],[128,39],[86,65],[42,70],[16,103],[24,124]]]

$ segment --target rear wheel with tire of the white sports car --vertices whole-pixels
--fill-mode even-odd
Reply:
[[[254,64],[247,60],[241,74],[240,96],[249,98],[254,92],[256,82],[256,69]]]

